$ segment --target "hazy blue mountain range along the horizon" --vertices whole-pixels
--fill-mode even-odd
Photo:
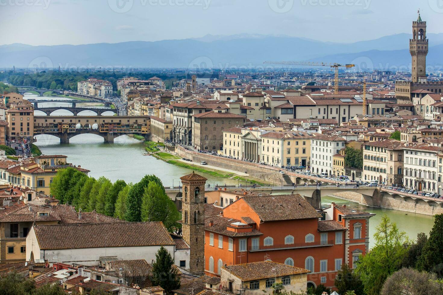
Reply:
[[[428,34],[427,65],[443,63],[443,33]],[[409,34],[395,34],[354,43],[322,42],[284,35],[206,35],[202,38],[132,41],[85,45],[0,46],[0,67],[46,65],[62,69],[262,66],[264,61],[324,61],[354,63],[358,68],[394,69],[410,65]]]

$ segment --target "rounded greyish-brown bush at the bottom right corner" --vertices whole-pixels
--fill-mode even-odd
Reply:
[[[392,276],[389,276],[385,284],[383,284],[380,294],[443,294],[443,284],[441,281],[438,281],[435,273],[402,268],[394,272]]]

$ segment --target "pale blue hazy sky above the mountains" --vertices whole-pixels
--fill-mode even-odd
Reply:
[[[443,32],[443,0],[0,0],[0,44],[117,43],[274,34],[356,42],[410,33],[420,8]]]

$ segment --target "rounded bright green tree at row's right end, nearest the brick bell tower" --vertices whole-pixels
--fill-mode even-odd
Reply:
[[[156,182],[150,182],[143,194],[142,221],[161,221],[172,231],[180,215],[174,202]]]

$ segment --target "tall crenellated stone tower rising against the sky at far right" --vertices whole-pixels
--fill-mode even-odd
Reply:
[[[417,21],[412,22],[412,39],[409,39],[409,52],[412,57],[412,83],[426,82],[426,55],[428,44],[426,22],[421,20],[420,10]]]

